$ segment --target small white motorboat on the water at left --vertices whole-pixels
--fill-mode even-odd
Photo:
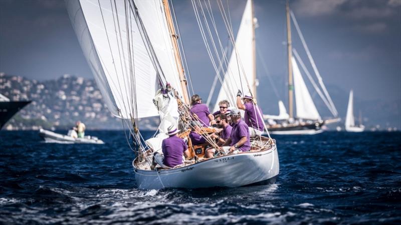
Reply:
[[[55,133],[50,130],[40,129],[39,135],[45,139],[46,142],[51,143],[92,143],[92,144],[104,144],[103,140],[97,138],[96,136],[84,136],[80,137],[73,137],[71,135],[72,132],[75,130],[70,129],[68,130],[68,134],[64,135],[61,133]]]

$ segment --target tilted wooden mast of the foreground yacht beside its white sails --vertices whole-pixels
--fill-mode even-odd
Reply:
[[[181,89],[182,89],[182,95],[183,95],[185,104],[189,104],[189,96],[188,96],[188,92],[186,91],[186,79],[185,79],[185,75],[184,75],[184,68],[182,67],[181,56],[179,55],[179,49],[178,49],[178,42],[177,42],[178,35],[175,33],[174,24],[173,24],[172,18],[171,18],[170,7],[168,6],[168,1],[163,0],[163,5],[164,5],[164,11],[166,14],[168,29],[171,34],[172,46],[174,48],[174,58],[175,58],[175,62],[177,65],[179,81],[180,81]]]

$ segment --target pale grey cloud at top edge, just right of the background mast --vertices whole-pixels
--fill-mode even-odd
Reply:
[[[301,16],[331,15],[345,2],[346,0],[299,0],[293,4],[293,8]]]

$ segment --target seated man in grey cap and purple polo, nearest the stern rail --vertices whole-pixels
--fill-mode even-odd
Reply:
[[[233,108],[229,113],[233,121],[233,129],[230,138],[223,144],[219,150],[227,153],[238,153],[241,151],[249,151],[251,149],[250,135],[248,125],[241,119],[241,112],[237,108]],[[228,146],[227,146],[228,145]],[[213,157],[216,149],[210,148],[206,151],[205,157]]]

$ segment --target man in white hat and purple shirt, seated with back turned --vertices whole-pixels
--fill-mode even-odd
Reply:
[[[174,125],[167,128],[167,135],[169,137],[165,138],[161,143],[163,155],[158,152],[154,153],[153,166],[155,165],[155,162],[157,162],[157,164],[160,164],[162,168],[174,167],[182,164],[183,155],[185,157],[190,155],[185,141],[177,135],[179,131],[180,130]]]

